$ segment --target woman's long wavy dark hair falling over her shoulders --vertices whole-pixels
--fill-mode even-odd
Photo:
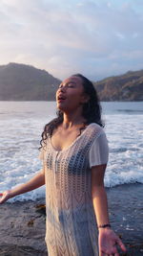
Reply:
[[[97,92],[92,84],[92,81],[88,80],[81,74],[74,74],[71,77],[80,78],[83,84],[84,92],[90,96],[90,100],[88,101],[88,103],[83,105],[82,115],[86,119],[84,128],[86,127],[86,125],[90,125],[91,123],[96,123],[100,127],[104,128],[105,124],[101,120],[102,107],[100,105],[100,101],[99,101]],[[41,149],[44,145],[46,145],[48,134],[51,136],[53,129],[57,128],[60,124],[62,124],[63,112],[58,109],[56,111],[56,115],[57,117],[51,120],[51,122],[44,127],[44,131],[42,132],[42,135],[41,135],[42,139],[40,141],[41,147],[39,149]],[[80,128],[80,134],[81,134],[81,129],[83,128]]]

